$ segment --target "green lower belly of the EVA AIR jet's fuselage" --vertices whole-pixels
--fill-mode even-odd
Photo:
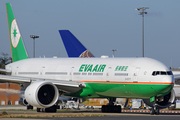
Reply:
[[[171,91],[173,85],[164,84],[119,84],[119,83],[85,83],[86,87],[76,97],[91,98],[150,98],[163,96]],[[157,92],[158,91],[158,92]],[[160,94],[161,93],[161,94]]]

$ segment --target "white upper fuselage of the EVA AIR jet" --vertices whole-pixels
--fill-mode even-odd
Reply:
[[[174,81],[173,76],[153,76],[153,71],[170,70],[150,58],[35,58],[11,63],[6,69],[12,76],[68,81]]]

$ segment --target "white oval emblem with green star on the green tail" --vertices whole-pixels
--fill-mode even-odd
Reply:
[[[17,26],[16,19],[14,19],[11,23],[11,42],[14,48],[17,47],[20,37],[19,28]]]

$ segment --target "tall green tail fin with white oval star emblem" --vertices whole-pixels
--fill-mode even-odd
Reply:
[[[10,3],[6,3],[7,20],[9,28],[9,38],[11,44],[11,57],[12,61],[19,61],[28,58],[21,34],[14,17]]]

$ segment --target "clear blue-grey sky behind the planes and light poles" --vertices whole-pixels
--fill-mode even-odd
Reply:
[[[0,53],[10,52],[5,3],[10,2],[29,57],[68,57],[58,30],[70,30],[94,56],[142,57],[180,67],[180,0],[0,0]]]

